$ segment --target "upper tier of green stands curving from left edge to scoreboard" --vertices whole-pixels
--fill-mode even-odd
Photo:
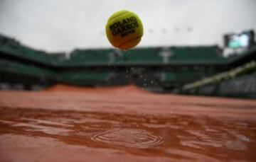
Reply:
[[[18,41],[0,35],[0,52],[48,66],[97,66],[133,64],[215,64],[228,60],[217,46],[203,47],[146,47],[129,51],[115,49],[73,50],[66,54],[33,50]]]

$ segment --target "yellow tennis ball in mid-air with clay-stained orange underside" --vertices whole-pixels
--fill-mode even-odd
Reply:
[[[114,47],[129,50],[142,40],[142,21],[135,13],[118,11],[108,19],[106,33],[107,39]]]

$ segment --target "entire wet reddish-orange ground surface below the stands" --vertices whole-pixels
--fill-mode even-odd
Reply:
[[[256,161],[256,101],[135,86],[0,91],[0,161]]]

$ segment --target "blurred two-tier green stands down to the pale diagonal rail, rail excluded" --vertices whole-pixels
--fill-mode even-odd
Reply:
[[[188,83],[230,71],[256,60],[256,47],[223,57],[220,47],[144,47],[73,50],[49,53],[33,50],[13,38],[0,35],[0,83],[44,86],[70,83],[79,86],[138,86],[173,91]]]

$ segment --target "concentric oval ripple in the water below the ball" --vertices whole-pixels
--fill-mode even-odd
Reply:
[[[93,141],[106,144],[126,146],[138,149],[147,149],[164,143],[159,136],[147,132],[144,129],[115,128],[100,132],[91,137]]]

